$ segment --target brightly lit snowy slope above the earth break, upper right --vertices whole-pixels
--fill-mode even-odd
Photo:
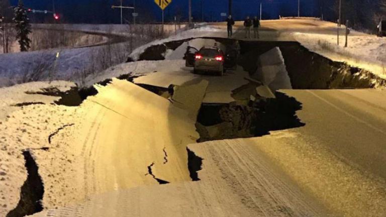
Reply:
[[[298,41],[333,61],[346,62],[386,79],[386,38],[351,30],[345,48],[345,26],[341,26],[338,46],[337,24],[316,18],[262,21],[262,28],[278,31],[277,40]]]

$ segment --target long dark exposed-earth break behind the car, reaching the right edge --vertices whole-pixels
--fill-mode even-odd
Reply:
[[[294,89],[336,89],[336,88],[373,88],[386,86],[386,80],[364,69],[352,67],[344,62],[335,62],[312,52],[299,42],[288,41],[244,41],[216,37],[214,39],[224,45],[240,45],[238,64],[251,75],[261,65],[260,55],[277,47],[285,62],[285,68],[291,78]],[[164,60],[165,52],[170,47],[182,44],[182,41],[171,41],[147,48],[139,60]],[[171,46],[173,44],[173,46]]]

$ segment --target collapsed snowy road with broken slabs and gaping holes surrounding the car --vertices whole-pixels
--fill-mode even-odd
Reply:
[[[384,81],[296,43],[239,43],[222,77],[191,73],[184,41],[163,60],[115,67],[132,74],[77,106],[53,94],[5,106],[2,170],[25,169],[28,146],[44,183],[33,216],[384,216],[386,100],[373,88]],[[296,54],[314,64],[296,68]],[[335,89],[348,87],[367,89]],[[16,207],[26,179],[5,178],[0,197]]]

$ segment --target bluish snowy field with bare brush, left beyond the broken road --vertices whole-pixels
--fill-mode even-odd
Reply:
[[[47,27],[47,25],[42,25],[44,26]],[[60,30],[63,28],[67,27],[60,26]],[[129,34],[129,31],[133,30],[130,28],[127,25],[68,26],[68,30],[82,29],[82,31],[100,31],[102,33],[122,31],[122,34]],[[120,44],[0,54],[0,87],[36,80],[70,80],[83,84],[88,75],[98,76],[104,69],[125,62],[131,49],[157,37],[152,34],[158,34],[160,25],[145,25],[143,28],[137,25],[133,28],[136,29],[135,34],[131,34],[134,39],[128,39],[127,42]],[[183,28],[184,26],[181,26],[180,30],[182,31]],[[167,34],[174,34],[174,26],[166,25],[165,29]],[[183,32],[178,35],[183,35]]]

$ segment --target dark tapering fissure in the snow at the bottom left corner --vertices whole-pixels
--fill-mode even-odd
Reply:
[[[41,201],[44,194],[44,185],[39,175],[39,168],[30,151],[23,151],[23,156],[26,161],[27,180],[21,188],[18,205],[7,214],[7,217],[23,217],[43,210]]]

